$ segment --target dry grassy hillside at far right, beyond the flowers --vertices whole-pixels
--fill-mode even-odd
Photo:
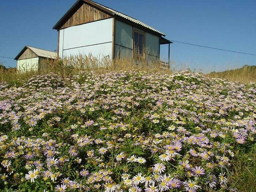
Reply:
[[[256,82],[256,65],[244,65],[244,67],[239,69],[211,72],[207,76],[211,78],[228,79],[230,81]]]

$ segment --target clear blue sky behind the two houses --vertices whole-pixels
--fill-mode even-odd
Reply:
[[[166,34],[192,44],[256,54],[256,0],[95,0]],[[57,49],[52,27],[75,0],[1,0],[0,56],[15,57],[25,45]],[[167,47],[161,48],[167,59]],[[174,43],[171,60],[178,67],[221,71],[256,65],[256,56]],[[13,59],[0,57],[5,66]]]

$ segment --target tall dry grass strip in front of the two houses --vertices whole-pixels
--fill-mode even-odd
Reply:
[[[102,59],[97,59],[92,55],[86,56],[83,54],[77,56],[68,56],[60,59],[44,59],[40,61],[38,70],[17,70],[11,68],[8,70],[0,69],[0,81],[5,81],[10,84],[22,84],[24,81],[31,78],[33,75],[47,74],[54,72],[62,78],[71,78],[79,71],[95,71],[103,74],[110,71],[120,70],[143,70],[161,73],[172,73],[171,70],[162,69],[160,61],[148,62],[146,57],[139,57],[136,60],[132,59],[115,59],[114,61],[106,56]]]

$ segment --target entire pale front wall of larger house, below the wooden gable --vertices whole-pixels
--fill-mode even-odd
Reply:
[[[59,56],[92,54],[101,59],[112,58],[113,18],[99,20],[60,30]]]

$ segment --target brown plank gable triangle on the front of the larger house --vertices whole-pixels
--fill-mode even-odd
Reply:
[[[96,20],[111,18],[111,16],[91,5],[83,3],[82,6],[64,23],[60,29],[93,22]]]

